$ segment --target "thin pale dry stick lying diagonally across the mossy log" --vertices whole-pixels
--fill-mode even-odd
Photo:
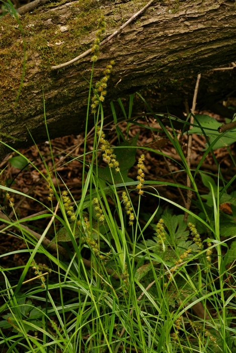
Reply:
[[[143,11],[145,11],[148,6],[150,6],[155,0],[150,0],[149,3],[147,3],[141,10],[139,10],[138,12],[136,12],[136,14],[134,14],[132,17],[130,17],[130,19],[128,21],[126,21],[119,29],[117,29],[115,32],[113,32],[109,37],[107,37],[106,39],[104,39],[101,43],[99,43],[99,46],[102,46],[104,44],[106,44],[107,42],[109,42],[109,40],[111,40],[113,37],[115,37],[117,34],[121,33],[122,30],[128,25],[130,24],[133,20],[135,20]],[[92,52],[92,48],[86,50],[85,52],[83,52],[82,54],[78,55],[77,57],[75,57],[74,59],[70,60],[67,63],[63,63],[60,65],[56,65],[56,66],[52,66],[51,69],[52,70],[58,70],[61,68],[65,68],[66,66],[69,66],[71,64],[76,63],[77,61],[79,61],[80,59],[82,59],[83,57],[89,55]]]

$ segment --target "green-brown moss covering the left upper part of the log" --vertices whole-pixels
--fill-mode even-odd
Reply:
[[[63,0],[60,4],[50,3],[43,9],[38,8],[33,13],[21,16],[21,26],[19,27],[17,20],[9,14],[0,21],[0,104],[8,104],[9,109],[11,108],[10,102],[13,102],[11,103],[12,110],[17,112],[18,119],[21,116],[36,114],[36,108],[34,107],[34,111],[31,111],[28,98],[25,100],[24,97],[32,90],[39,91],[42,85],[48,88],[53,84],[56,76],[55,72],[51,71],[52,65],[72,60],[90,48],[95,38],[99,19],[103,14],[106,15],[107,9],[101,6],[102,3],[97,0],[80,0],[71,4],[66,8],[69,16],[65,16],[63,19],[56,10],[55,12],[44,11],[44,9],[50,10],[50,8],[59,7],[66,2],[68,0]],[[127,13],[135,13],[146,3],[147,0],[133,0],[119,6],[116,5],[117,11],[114,11],[112,15],[109,13],[107,16],[109,31],[117,29],[126,21]],[[61,32],[60,25],[67,26],[67,31]],[[25,41],[26,47],[26,70],[20,103],[16,104],[15,99],[21,84],[24,63],[23,41]],[[55,43],[61,43],[61,45]],[[83,90],[83,87],[78,88],[78,91],[80,90]],[[59,92],[56,94],[56,97],[50,98],[50,100],[54,100],[55,106],[58,104]],[[73,97],[75,93],[74,90],[68,90],[66,94],[65,92],[60,94],[60,97],[66,95]],[[42,107],[38,107],[37,111],[40,112],[41,109]],[[9,124],[11,122],[7,121],[6,126]],[[1,126],[5,126],[3,119],[1,119]]]

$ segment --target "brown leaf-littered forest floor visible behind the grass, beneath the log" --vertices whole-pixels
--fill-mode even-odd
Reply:
[[[206,112],[201,112],[206,113]],[[211,116],[213,116],[217,120],[222,120],[220,116],[211,114],[207,112]],[[147,124],[147,122],[143,122],[140,120],[140,123]],[[159,128],[158,123],[155,122],[153,118],[149,118],[148,124],[153,128]],[[110,126],[112,127],[112,125]],[[107,131],[110,131],[110,127],[107,128]],[[125,134],[127,123],[120,124],[121,131]],[[153,138],[157,136],[153,136],[150,130],[145,129],[144,127],[140,128],[135,125],[131,125],[129,129],[129,138],[134,137],[137,133],[139,134],[137,146],[136,159],[138,159],[139,155],[143,152],[142,146],[149,144],[148,147],[151,147],[156,150],[160,150],[161,152],[165,153],[166,155],[176,159],[178,162],[178,155],[174,150],[173,146],[167,139],[162,139],[162,143],[157,144],[153,142]],[[178,134],[179,133],[179,134]],[[182,139],[182,149],[185,152],[187,146],[187,135],[183,135],[181,137],[180,131],[177,131],[178,138]],[[82,135],[78,136],[65,136],[62,138],[56,138],[51,140],[52,146],[52,153],[54,155],[54,162],[57,163],[65,154],[69,155],[69,159],[73,159],[69,163],[62,162],[62,165],[57,168],[57,172],[60,175],[61,181],[59,182],[60,190],[63,190],[63,183],[69,188],[73,198],[75,200],[80,199],[81,189],[82,189],[82,162],[76,160],[77,157],[80,157],[84,153],[83,147],[83,140],[84,137]],[[93,149],[93,140],[94,135],[93,133],[87,140],[87,151]],[[113,130],[113,133],[109,132],[109,141],[111,144],[116,146],[118,145],[116,131]],[[193,142],[192,142],[192,150],[191,150],[191,167],[193,169],[199,164],[199,161],[204,153],[205,148],[205,138],[203,136],[193,135]],[[228,148],[228,147],[227,147]],[[230,180],[232,175],[235,174],[235,167],[232,165],[232,161],[230,159],[228,150],[226,147],[219,148],[215,150],[215,156],[218,163],[221,166],[221,172],[226,181]],[[229,146],[232,156],[235,156],[234,145]],[[40,151],[40,153],[39,153]],[[51,158],[50,146],[48,142],[39,144],[37,147],[32,146],[27,149],[21,149],[20,153],[26,156],[33,164],[42,172],[46,172],[42,158],[46,160],[47,164],[53,169],[53,163]],[[29,190],[32,189],[30,192],[30,196],[37,200],[35,202],[33,199],[27,198],[25,199],[21,205],[17,209],[17,216],[18,218],[24,218],[30,216],[32,214],[38,213],[43,211],[45,208],[43,204],[50,207],[50,202],[47,200],[48,197],[48,190],[46,189],[46,182],[45,180],[35,186],[35,184],[39,181],[40,175],[39,172],[33,168],[31,165],[28,168],[23,169],[22,171],[14,166],[11,165],[10,159],[17,154],[11,153],[2,161],[0,164],[0,169],[4,170],[2,174],[2,179],[7,182],[7,185],[11,188],[27,193]],[[71,156],[73,158],[71,158]],[[152,153],[152,152],[145,152],[145,179],[151,181],[163,181],[163,186],[158,187],[158,192],[161,196],[176,202],[184,206],[184,201],[181,196],[178,194],[176,188],[172,188],[170,186],[165,186],[165,182],[177,182],[181,185],[186,185],[186,174],[180,170],[180,165],[178,163],[173,162],[172,159],[164,160],[162,155]],[[104,164],[105,166],[105,164]],[[206,170],[207,172],[217,174],[218,170],[215,165],[215,162],[212,158],[211,154],[208,154],[206,157],[205,162],[202,165],[202,170]],[[174,172],[174,174],[173,174]],[[129,170],[128,176],[132,179],[136,179],[137,175],[137,168],[133,166]],[[173,180],[173,175],[175,176],[175,181]],[[53,179],[54,185],[56,186],[56,179]],[[203,185],[201,178],[198,177],[197,179],[198,190],[202,194],[207,194],[207,188]],[[184,192],[183,192],[184,193]],[[186,198],[186,194],[183,195]],[[21,195],[14,195],[15,197],[15,205],[21,201]],[[5,200],[6,201],[6,200]],[[2,202],[5,203],[7,207],[7,211],[10,213],[11,209],[7,206],[7,203],[4,201],[4,195],[2,194]],[[112,203],[112,201],[110,200]],[[152,213],[156,208],[155,200],[151,201],[148,199],[148,203],[145,204],[145,198],[142,203],[143,209],[145,208],[145,212]],[[163,203],[162,208],[169,207],[168,203]],[[194,205],[192,205],[192,210],[194,212]],[[178,210],[177,210],[178,212]],[[227,212],[227,211],[226,211]],[[38,220],[34,222],[34,227],[38,229],[41,233],[43,228],[46,227],[45,219]],[[37,230],[36,230],[37,231]],[[52,231],[53,233],[53,231]],[[0,232],[0,254],[3,255],[5,253],[14,252],[19,249],[24,249],[26,244],[24,241],[19,241],[19,238],[15,238],[13,234],[10,232]],[[37,255],[39,256],[39,255]],[[42,256],[42,255],[40,255]],[[37,258],[38,262],[43,262],[43,259]],[[0,265],[4,268],[12,268],[17,266],[24,266],[27,262],[27,258],[24,254],[14,254],[11,256],[2,257],[0,260]],[[14,271],[11,272],[11,275],[14,276]],[[17,276],[18,277],[18,276]],[[0,278],[0,281],[2,278]]]

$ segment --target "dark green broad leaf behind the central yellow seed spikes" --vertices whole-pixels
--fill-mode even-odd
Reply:
[[[111,172],[113,175],[113,180],[115,184],[120,184],[120,183],[129,183],[133,182],[131,178],[128,178],[128,171],[129,169],[134,165],[135,163],[135,155],[136,155],[136,148],[127,148],[129,146],[137,146],[137,141],[138,141],[138,135],[135,135],[132,139],[128,141],[124,141],[120,144],[121,147],[124,148],[117,148],[115,149],[115,155],[116,155],[116,160],[119,162],[119,168],[120,168],[120,173],[122,175],[122,178],[120,176],[119,172],[115,172],[114,168],[110,168],[108,165],[106,168],[99,168],[98,169],[98,177],[101,179],[106,180],[110,184],[113,183],[112,177],[111,177]]]

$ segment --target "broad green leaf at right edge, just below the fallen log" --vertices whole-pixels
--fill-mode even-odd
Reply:
[[[195,115],[198,122],[201,124],[202,129],[205,131],[205,134],[208,136],[210,143],[212,143],[219,135],[222,135],[218,133],[217,129],[222,125],[221,123],[217,122],[213,117],[208,116],[208,115]],[[197,122],[195,120],[194,122],[195,125],[197,125]],[[212,130],[213,129],[213,130]],[[197,135],[203,135],[202,130],[199,127],[193,127],[191,130],[188,131],[189,134],[197,134]],[[229,131],[226,134],[220,138],[215,145],[213,146],[213,149],[217,149],[220,147],[225,147],[229,146],[232,143],[236,141],[236,134],[233,131]]]

